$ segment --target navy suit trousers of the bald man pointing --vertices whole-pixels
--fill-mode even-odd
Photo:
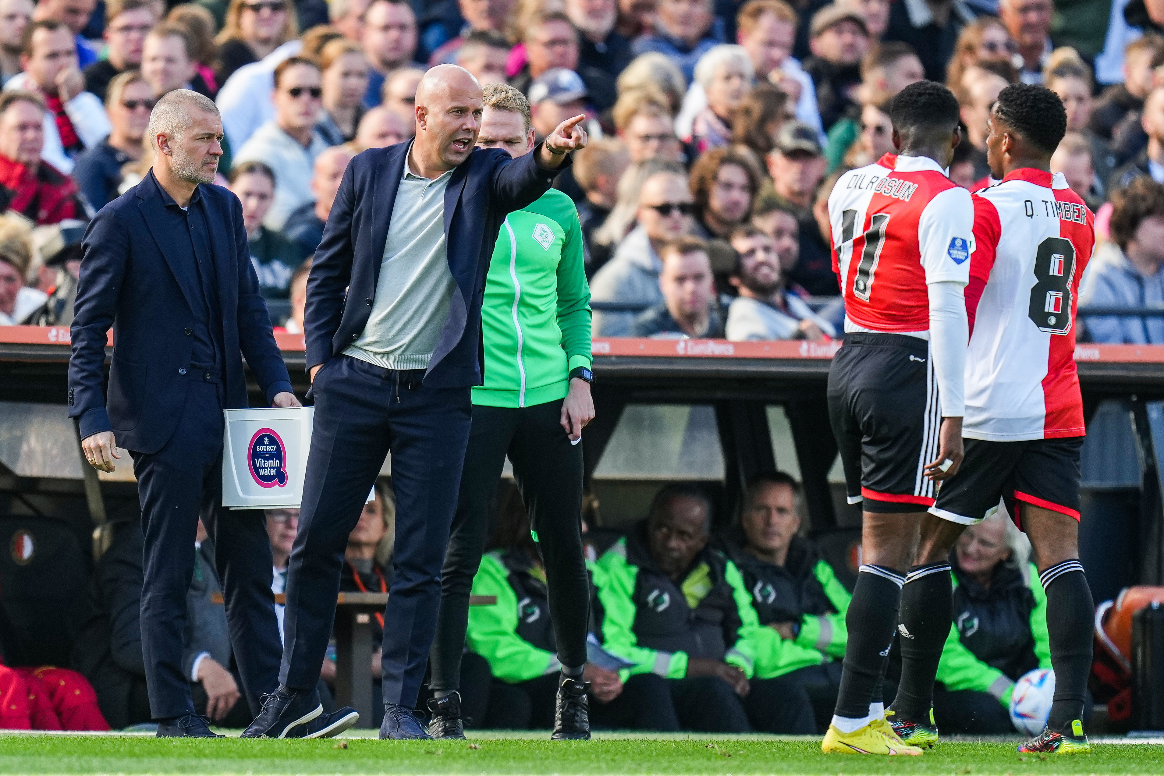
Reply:
[[[470,418],[468,387],[425,386],[423,376],[343,355],[315,375],[311,453],[288,564],[279,682],[289,688],[307,690],[319,681],[348,534],[391,450],[396,549],[381,684],[384,703],[417,703]]]

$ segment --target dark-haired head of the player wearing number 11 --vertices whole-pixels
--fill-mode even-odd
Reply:
[[[958,127],[960,106],[953,92],[942,84],[922,80],[910,84],[893,98],[893,144],[907,156],[927,151],[942,166],[949,166],[953,149],[961,141]]]

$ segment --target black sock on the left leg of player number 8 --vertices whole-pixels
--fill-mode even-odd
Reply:
[[[950,621],[953,619],[953,583],[950,563],[915,565],[901,589],[897,633],[901,643],[901,684],[890,709],[894,716],[929,725],[934,706],[934,677]]]

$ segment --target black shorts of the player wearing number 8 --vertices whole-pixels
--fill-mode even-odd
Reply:
[[[942,483],[932,514],[974,525],[1006,503],[1022,528],[1022,505],[1041,506],[1079,519],[1083,436],[1021,442],[965,440],[958,474]]]

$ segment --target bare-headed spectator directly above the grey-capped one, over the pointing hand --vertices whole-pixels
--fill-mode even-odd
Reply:
[[[618,94],[615,77],[604,70],[579,64],[579,31],[570,17],[560,10],[535,14],[523,36],[527,62],[512,78],[510,86],[520,90],[534,104],[533,83],[551,70],[573,71],[585,84],[590,102],[599,111],[615,105]],[[554,124],[556,127],[556,124]]]

